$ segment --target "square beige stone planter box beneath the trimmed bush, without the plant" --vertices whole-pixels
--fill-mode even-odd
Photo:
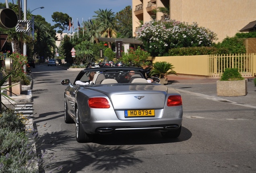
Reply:
[[[247,94],[247,79],[217,81],[217,96],[233,97],[245,96]]]

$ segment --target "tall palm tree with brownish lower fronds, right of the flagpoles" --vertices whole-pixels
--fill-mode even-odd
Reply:
[[[111,10],[97,10],[95,11],[97,15],[93,16],[95,17],[95,20],[98,20],[101,26],[101,33],[102,37],[112,38],[116,37],[116,31],[115,31],[115,15],[114,12]],[[111,48],[111,43],[108,42],[108,47]]]

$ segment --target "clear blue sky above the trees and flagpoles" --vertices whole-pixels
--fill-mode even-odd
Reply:
[[[23,10],[24,1],[21,0]],[[0,0],[0,2],[5,3],[5,0]],[[8,0],[8,2],[16,3],[17,0]],[[52,22],[54,12],[66,13],[73,18],[74,27],[77,26],[77,18],[81,25],[82,18],[84,21],[89,20],[89,18],[92,19],[96,15],[95,11],[99,9],[112,10],[116,14],[129,5],[132,6],[132,0],[27,0],[27,10],[32,11],[35,8],[44,7],[34,10],[33,15],[41,15],[46,22],[53,25],[55,24],[55,22]]]

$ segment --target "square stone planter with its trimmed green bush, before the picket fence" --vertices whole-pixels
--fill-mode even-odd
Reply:
[[[217,81],[217,96],[232,97],[247,94],[247,79],[243,78],[237,68],[226,68],[221,79]]]

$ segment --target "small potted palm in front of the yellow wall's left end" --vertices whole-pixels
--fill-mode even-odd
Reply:
[[[173,70],[173,65],[169,62],[155,62],[152,65],[152,70],[150,72],[151,76],[157,76],[160,78],[160,83],[161,84],[167,84],[168,80],[167,80],[167,75],[169,74],[176,74],[176,72]]]

